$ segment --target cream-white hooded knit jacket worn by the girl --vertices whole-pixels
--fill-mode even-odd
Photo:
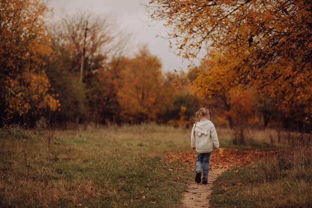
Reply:
[[[197,122],[196,128],[193,125],[191,132],[191,146],[196,148],[198,153],[212,152],[212,146],[219,148],[219,140],[213,123],[207,119]],[[194,136],[195,131],[195,136]]]

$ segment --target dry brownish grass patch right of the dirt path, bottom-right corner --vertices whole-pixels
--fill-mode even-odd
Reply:
[[[297,142],[257,165],[222,174],[210,200],[214,208],[312,207],[311,140]]]

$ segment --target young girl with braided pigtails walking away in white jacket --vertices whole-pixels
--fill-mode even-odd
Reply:
[[[195,182],[207,184],[209,172],[209,159],[212,152],[212,146],[219,150],[219,140],[216,129],[211,122],[211,109],[201,108],[196,112],[196,123],[193,125],[191,133],[191,147],[197,152],[196,177]]]

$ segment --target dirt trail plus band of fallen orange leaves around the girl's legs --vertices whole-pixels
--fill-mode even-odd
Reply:
[[[223,151],[223,155],[219,155],[213,151],[210,157],[208,184],[196,184],[194,173],[194,178],[187,182],[188,187],[183,192],[181,208],[209,208],[213,182],[223,171],[239,167],[242,164],[255,164],[261,159],[269,160],[277,153],[277,151],[263,152],[258,150],[226,149]],[[189,169],[194,171],[196,152],[187,151],[178,154],[168,154],[165,156],[165,159],[171,162],[182,161]]]

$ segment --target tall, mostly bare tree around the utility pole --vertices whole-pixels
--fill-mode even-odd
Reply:
[[[112,62],[123,54],[127,33],[122,33],[116,21],[108,16],[96,16],[88,11],[64,16],[50,33],[54,58],[48,74],[64,103],[58,117],[76,123],[103,121],[103,110],[106,111],[103,105],[110,101],[107,96],[116,94],[114,90],[106,93],[111,87],[106,81],[114,79],[107,72],[112,71]],[[68,94],[69,91],[72,93]]]

